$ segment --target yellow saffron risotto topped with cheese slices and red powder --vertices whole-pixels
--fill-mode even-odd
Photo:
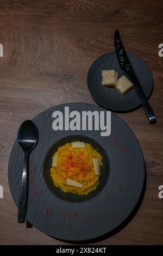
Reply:
[[[84,142],[67,143],[54,153],[51,177],[64,192],[86,195],[101,177],[102,156]]]

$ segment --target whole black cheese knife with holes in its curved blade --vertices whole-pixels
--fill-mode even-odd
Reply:
[[[124,46],[122,44],[120,32],[118,29],[115,30],[114,34],[114,42],[115,42],[115,50],[116,50],[116,55],[118,59],[118,63],[120,64],[120,68],[125,76],[129,78],[129,80],[133,83],[135,92],[137,96],[139,97],[139,100],[143,106],[143,109],[151,123],[155,123],[156,121],[156,116],[153,112],[153,109],[151,105],[148,102],[148,99],[146,97],[145,92],[143,91],[141,84],[136,77],[136,74],[134,72],[133,67],[131,66],[131,63],[129,61],[129,58],[127,56],[127,53],[124,49]]]

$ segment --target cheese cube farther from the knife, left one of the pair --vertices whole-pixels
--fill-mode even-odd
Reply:
[[[103,70],[102,71],[102,85],[113,86],[117,85],[118,73],[115,70]]]

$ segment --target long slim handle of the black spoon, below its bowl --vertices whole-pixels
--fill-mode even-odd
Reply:
[[[29,154],[25,153],[22,184],[21,184],[20,198],[18,202],[18,214],[17,214],[18,223],[24,223],[26,221],[27,202],[28,202],[28,183],[29,183]]]

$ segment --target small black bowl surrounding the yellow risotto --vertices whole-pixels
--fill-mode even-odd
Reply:
[[[73,141],[81,141],[81,142],[89,143],[94,149],[98,150],[99,154],[101,154],[101,156],[102,156],[103,166],[101,168],[102,175],[99,180],[99,185],[97,186],[96,190],[91,191],[90,193],[88,193],[85,196],[79,196],[77,194],[62,192],[59,187],[56,187],[54,185],[53,180],[50,175],[50,169],[52,167],[52,157],[53,157],[54,153],[62,145],[65,145],[66,143],[71,143]],[[110,173],[109,158],[108,158],[108,155],[105,153],[105,150],[94,139],[86,137],[86,136],[73,135],[73,136],[68,136],[68,137],[60,139],[48,150],[48,152],[45,156],[45,160],[43,162],[43,177],[45,179],[46,185],[48,186],[49,190],[55,196],[59,197],[61,200],[65,200],[65,201],[68,201],[71,203],[85,202],[86,200],[96,197],[97,194],[103,190],[106,182],[108,181],[109,173]]]

